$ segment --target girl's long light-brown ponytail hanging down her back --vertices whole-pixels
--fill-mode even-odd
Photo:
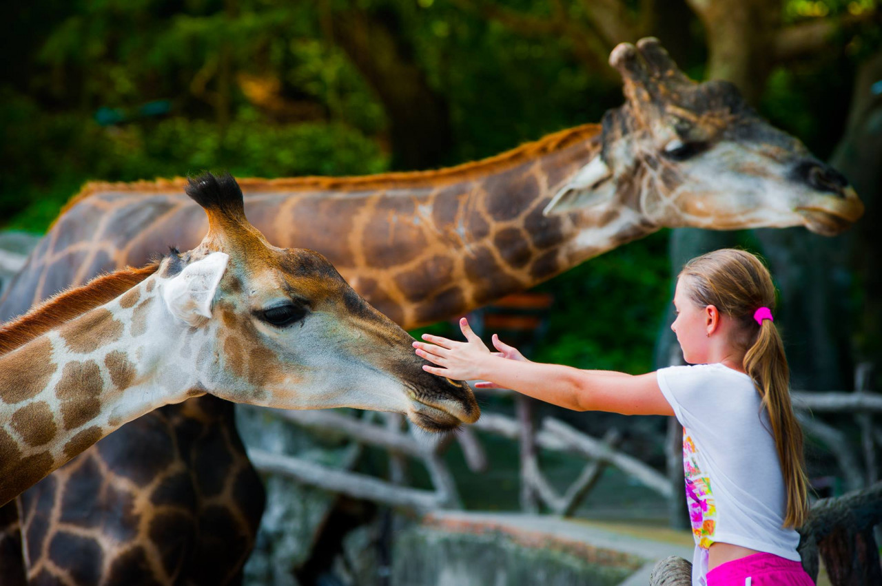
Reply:
[[[790,404],[789,367],[778,328],[762,320],[759,335],[744,354],[744,370],[751,376],[772,424],[787,491],[785,527],[799,527],[808,514],[808,478],[805,476],[803,431]]]

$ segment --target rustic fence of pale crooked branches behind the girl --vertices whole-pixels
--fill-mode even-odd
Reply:
[[[876,450],[882,444],[882,432],[873,426],[873,419],[882,413],[882,396],[865,389],[867,372],[868,367],[859,368],[859,384],[853,392],[792,393],[797,417],[806,434],[830,449],[840,465],[848,490],[869,486],[878,479]],[[525,512],[537,512],[544,507],[553,514],[572,516],[579,503],[597,485],[604,469],[613,466],[669,499],[674,521],[685,518],[681,515],[681,503],[684,502],[680,446],[682,428],[676,425],[676,419],[671,418],[668,470],[658,471],[618,449],[621,434],[616,429],[611,429],[603,437],[594,437],[554,417],[544,417],[537,422],[533,399],[503,389],[492,392],[497,396],[512,397],[516,417],[485,411],[474,425],[445,436],[414,430],[405,425],[400,415],[388,413],[377,421],[376,414],[365,414],[359,419],[344,412],[275,410],[276,417],[310,430],[313,434],[338,437],[343,434],[356,445],[385,449],[390,458],[390,479],[332,469],[296,456],[258,450],[250,450],[249,454],[260,471],[282,474],[310,486],[355,498],[416,510],[461,508],[456,483],[443,459],[445,449],[453,441],[459,443],[468,468],[480,473],[487,467],[487,456],[478,434],[493,434],[519,444],[520,506]],[[848,438],[845,431],[815,417],[821,413],[852,414],[856,429],[860,430],[861,448],[855,449],[854,441]],[[538,456],[540,450],[564,452],[585,459],[578,478],[563,493],[557,493],[543,473]],[[407,458],[421,462],[426,468],[432,490],[403,486],[401,470]],[[676,519],[677,515],[680,515],[680,519]]]

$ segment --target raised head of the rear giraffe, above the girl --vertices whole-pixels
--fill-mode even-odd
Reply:
[[[546,208],[631,208],[654,226],[805,226],[838,234],[863,213],[848,181],[775,129],[725,81],[697,84],[656,39],[609,63],[626,103],[603,117],[602,149]]]

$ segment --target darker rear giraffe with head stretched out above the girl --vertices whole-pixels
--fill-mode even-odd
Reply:
[[[622,75],[625,102],[601,124],[436,171],[244,179],[249,218],[276,245],[322,252],[374,307],[409,329],[534,286],[665,226],[836,234],[861,216],[845,178],[762,120],[733,85],[692,82],[654,39],[619,45],[610,64]],[[182,185],[86,184],[13,278],[0,318],[100,271],[143,262],[169,242],[195,243],[205,219],[181,196]],[[213,400],[191,399],[130,425]],[[206,433],[233,437],[231,412],[213,412]],[[176,417],[175,430],[190,421]],[[114,434],[89,453],[125,454],[139,437]],[[14,530],[7,535],[14,539]]]

